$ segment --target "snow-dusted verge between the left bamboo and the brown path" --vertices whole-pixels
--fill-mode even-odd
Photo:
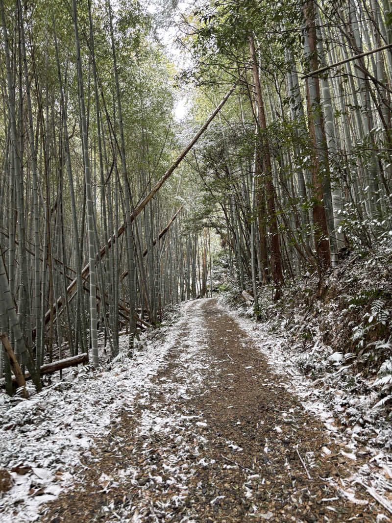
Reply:
[[[40,505],[53,501],[77,479],[73,473],[80,468],[80,455],[94,446],[94,438],[108,434],[121,412],[132,412],[136,395],[147,401],[151,380],[165,364],[178,333],[197,321],[194,311],[189,312],[191,305],[192,301],[183,303],[181,319],[159,329],[158,339],[147,342],[131,360],[97,372],[79,368],[67,381],[47,386],[28,400],[0,393],[0,467],[14,480],[8,492],[0,492],[0,522],[37,520]],[[194,330],[200,332],[200,327]],[[126,345],[123,336],[120,353]],[[195,380],[201,379],[201,370],[194,365]]]

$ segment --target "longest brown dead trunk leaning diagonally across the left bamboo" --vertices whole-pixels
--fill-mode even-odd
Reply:
[[[236,85],[233,85],[233,87],[229,90],[229,92],[226,94],[226,96],[222,99],[221,103],[215,108],[215,110],[211,113],[210,117],[204,122],[203,126],[199,129],[199,131],[194,135],[192,140],[189,142],[189,144],[185,147],[185,149],[182,151],[182,153],[177,157],[177,160],[166,170],[165,174],[157,181],[155,186],[149,191],[148,195],[140,202],[138,203],[131,213],[130,216],[130,222],[132,223],[137,215],[139,215],[142,210],[145,208],[147,203],[153,199],[153,197],[156,195],[156,193],[159,191],[159,189],[163,186],[165,181],[169,178],[169,176],[175,171],[175,169],[179,166],[183,158],[189,153],[189,151],[192,149],[193,145],[199,140],[201,135],[205,132],[207,127],[210,125],[212,120],[215,118],[215,116],[218,114],[218,112],[222,109],[222,107],[225,105],[226,101],[232,95],[234,89],[236,88]],[[109,249],[112,244],[116,241],[116,236],[121,236],[122,233],[125,231],[125,223],[121,225],[121,227],[118,229],[117,233],[113,234],[108,242],[103,245],[98,253],[96,253],[96,260],[99,261],[102,259],[103,256],[106,255],[107,248]],[[85,278],[90,272],[90,264],[88,263],[83,269],[82,269],[82,278]],[[76,288],[77,278],[75,278],[70,285],[67,287],[67,296],[70,295]],[[54,303],[54,307],[60,307],[62,305],[62,299],[63,297],[60,296],[57,298],[56,302]],[[48,323],[50,320],[51,310],[49,309],[45,313],[45,323]]]

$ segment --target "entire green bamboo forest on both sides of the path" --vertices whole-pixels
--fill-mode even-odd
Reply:
[[[155,4],[154,4],[155,5]],[[387,0],[0,0],[0,380],[390,241]],[[182,6],[183,8],[183,6]],[[186,121],[156,20],[190,64]],[[221,101],[220,101],[221,100]],[[181,164],[181,165],[180,165]],[[178,168],[179,167],[179,168]],[[210,280],[210,281],[208,281]],[[12,372],[15,378],[11,376]],[[19,381],[17,380],[19,383]]]

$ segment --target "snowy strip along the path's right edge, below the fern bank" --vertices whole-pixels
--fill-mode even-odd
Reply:
[[[365,463],[341,486],[361,484],[392,514],[392,455],[388,445],[388,442],[390,444],[392,441],[392,426],[382,416],[377,416],[376,410],[373,412],[371,410],[376,397],[372,392],[372,384],[368,383],[367,395],[355,396],[342,390],[341,377],[348,372],[350,365],[347,365],[338,354],[328,354],[328,348],[317,346],[317,343],[312,350],[324,351],[330,366],[335,369],[326,372],[317,380],[312,380],[298,370],[304,355],[296,353],[295,347],[291,351],[284,349],[286,344],[283,331],[271,333],[268,326],[256,323],[255,320],[244,315],[242,309],[233,310],[224,300],[220,300],[220,305],[226,313],[235,317],[239,326],[267,358],[271,368],[285,376],[282,384],[288,391],[296,394],[305,410],[321,419],[329,436],[335,439],[339,446],[351,449],[349,454],[341,450],[342,456],[349,457],[354,462],[360,457],[366,458]],[[356,379],[363,380],[360,376],[356,376]],[[366,416],[367,423],[363,423],[361,415]],[[342,425],[339,422],[344,420],[345,416],[358,421],[351,425],[345,419]]]

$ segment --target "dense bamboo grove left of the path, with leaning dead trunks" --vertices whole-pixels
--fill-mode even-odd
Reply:
[[[143,7],[115,7],[0,2],[0,379],[10,394],[25,369],[38,390],[53,360],[96,367],[100,335],[116,356],[126,331],[132,354],[138,328],[207,292],[209,236],[185,228],[181,172],[159,189],[220,108],[178,156],[173,66]]]

